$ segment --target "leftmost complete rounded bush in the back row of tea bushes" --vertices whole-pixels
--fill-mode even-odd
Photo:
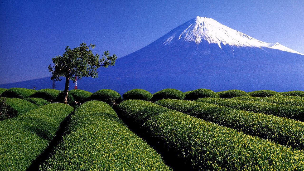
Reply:
[[[10,89],[7,89],[5,92],[3,92],[2,96],[25,99],[25,98],[31,96],[32,94],[34,94],[35,92],[36,92],[36,90],[32,90],[32,89],[10,88]]]

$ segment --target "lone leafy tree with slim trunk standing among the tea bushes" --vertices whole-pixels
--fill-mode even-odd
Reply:
[[[90,44],[92,49],[95,45]],[[50,72],[52,72],[51,79],[61,81],[60,77],[65,78],[64,87],[64,103],[67,103],[67,94],[69,91],[70,79],[75,82],[75,77],[81,79],[82,77],[98,77],[96,71],[99,67],[112,66],[115,64],[116,55],[109,56],[109,51],[105,51],[102,58],[99,59],[98,54],[93,54],[89,47],[83,42],[79,47],[70,49],[68,46],[65,48],[65,52],[62,56],[58,55],[52,58],[54,66],[48,66]]]

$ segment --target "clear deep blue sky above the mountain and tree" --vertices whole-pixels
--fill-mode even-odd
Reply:
[[[0,84],[50,76],[51,58],[83,41],[123,57],[196,16],[304,54],[303,0],[2,0]]]

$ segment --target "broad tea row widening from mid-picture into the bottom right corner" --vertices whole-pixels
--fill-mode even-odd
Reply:
[[[179,158],[185,170],[304,170],[303,151],[169,110],[154,103],[126,100],[119,114],[147,130],[155,143]]]

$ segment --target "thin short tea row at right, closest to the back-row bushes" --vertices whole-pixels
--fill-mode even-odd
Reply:
[[[242,101],[257,101],[257,102],[267,102],[275,103],[289,106],[302,106],[304,107],[304,99],[291,99],[282,96],[271,96],[271,97],[234,97],[233,99]]]

